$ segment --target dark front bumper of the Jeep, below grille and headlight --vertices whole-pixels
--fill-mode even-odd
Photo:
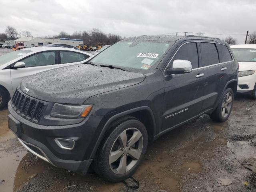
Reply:
[[[81,174],[87,172],[96,142],[93,138],[102,116],[87,117],[78,124],[42,126],[17,114],[10,102],[8,109],[8,118],[19,124],[18,140],[27,150],[56,167]],[[62,149],[54,141],[55,138],[75,140],[75,146],[72,150]]]

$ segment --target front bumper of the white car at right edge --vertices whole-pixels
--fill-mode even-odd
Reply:
[[[238,77],[237,92],[246,93],[251,92],[254,89],[256,83],[256,73],[248,76]],[[248,88],[241,88],[243,86],[248,86]]]

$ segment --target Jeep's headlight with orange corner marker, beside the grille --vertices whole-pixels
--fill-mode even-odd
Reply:
[[[62,105],[54,104],[51,116],[58,118],[82,118],[86,117],[92,109],[92,105]]]

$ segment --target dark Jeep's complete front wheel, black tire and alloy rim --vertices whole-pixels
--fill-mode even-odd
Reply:
[[[95,171],[110,182],[131,176],[142,162],[148,145],[147,130],[138,119],[127,116],[115,125],[94,160]]]

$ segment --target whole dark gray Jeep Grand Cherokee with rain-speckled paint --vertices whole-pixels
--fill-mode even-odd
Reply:
[[[118,182],[149,141],[202,114],[226,121],[238,62],[226,42],[200,36],[121,40],[88,63],[24,79],[8,104],[9,128],[33,154]]]

